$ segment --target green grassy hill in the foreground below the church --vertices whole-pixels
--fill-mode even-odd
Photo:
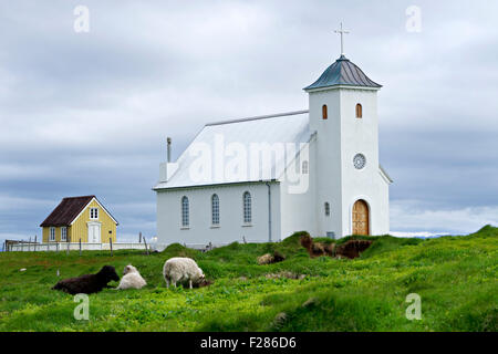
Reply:
[[[113,258],[98,251],[0,253],[0,331],[497,331],[498,228],[430,240],[371,239],[355,260],[310,259],[299,236],[207,253],[180,244]],[[257,266],[258,256],[273,250],[287,260]],[[166,289],[162,269],[174,256],[196,259],[214,284]],[[61,278],[104,264],[121,273],[128,263],[147,287],[90,295],[90,321],[74,320],[73,296],[50,290]],[[405,317],[408,293],[422,298],[421,321]]]

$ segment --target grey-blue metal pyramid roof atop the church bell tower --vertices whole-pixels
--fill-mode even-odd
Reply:
[[[344,55],[341,55],[314,83],[304,90],[331,87],[331,86],[362,86],[380,88],[382,85],[370,80],[363,71]]]

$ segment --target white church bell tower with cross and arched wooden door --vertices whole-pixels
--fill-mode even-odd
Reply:
[[[347,33],[336,31],[342,35]],[[377,92],[343,53],[304,91],[317,132],[314,170],[319,236],[390,231],[388,185],[378,163]]]

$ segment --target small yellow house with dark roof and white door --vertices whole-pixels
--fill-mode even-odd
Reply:
[[[40,227],[43,242],[116,242],[117,221],[95,196],[62,199]]]

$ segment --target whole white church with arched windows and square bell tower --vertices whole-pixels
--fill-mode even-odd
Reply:
[[[157,244],[387,233],[381,87],[341,54],[303,88],[307,111],[206,124],[176,162],[168,138],[153,188]]]

